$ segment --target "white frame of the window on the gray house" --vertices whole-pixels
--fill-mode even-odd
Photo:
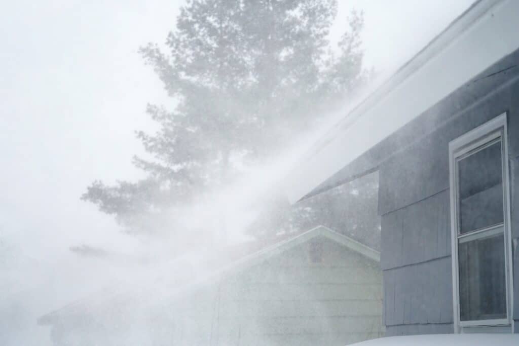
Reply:
[[[454,311],[454,331],[462,333],[465,327],[488,327],[488,326],[510,326],[513,333],[514,323],[512,321],[513,307],[513,287],[512,287],[512,237],[511,237],[511,220],[510,220],[510,178],[508,164],[508,138],[507,138],[507,114],[503,113],[494,119],[487,121],[481,126],[461,135],[457,139],[449,142],[449,183],[450,183],[450,233],[452,246],[452,275],[453,275],[453,311]],[[458,203],[457,203],[457,184],[458,171],[456,167],[456,159],[466,155],[473,149],[479,148],[492,141],[500,138],[501,155],[502,155],[502,171],[503,171],[503,238],[504,238],[504,256],[505,256],[505,276],[506,276],[506,292],[507,292],[507,317],[506,319],[496,320],[477,320],[477,321],[460,321],[460,304],[459,304],[459,257],[458,257]],[[499,226],[501,227],[501,226]],[[484,229],[485,233],[491,227]],[[463,237],[476,237],[481,231],[473,231],[468,234],[461,235]]]

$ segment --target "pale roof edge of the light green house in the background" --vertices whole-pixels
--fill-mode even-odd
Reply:
[[[242,257],[241,259],[236,260],[227,266],[210,272],[208,275],[205,275],[202,278],[199,278],[198,280],[193,280],[182,286],[172,287],[171,292],[168,292],[167,294],[167,298],[182,295],[183,293],[189,292],[190,290],[200,287],[201,285],[208,284],[214,280],[218,280],[222,278],[222,276],[244,271],[247,268],[257,265],[264,260],[277,256],[285,251],[290,250],[291,248],[294,248],[297,245],[306,243],[307,241],[310,241],[311,239],[315,239],[318,237],[329,239],[339,245],[346,247],[350,251],[359,253],[360,255],[364,256],[369,260],[380,262],[380,253],[373,250],[371,247],[368,247],[356,240],[344,236],[343,234],[340,234],[325,226],[318,226],[304,233],[300,233],[297,236],[292,237],[288,240],[284,240],[278,242],[277,244],[268,246],[264,248],[264,250]],[[55,321],[57,321],[62,314],[67,314],[72,311],[78,311],[82,308],[88,309],[92,306],[99,306],[102,305],[103,302],[107,300],[117,299],[121,297],[121,295],[135,295],[139,294],[139,292],[121,293],[115,292],[114,290],[103,290],[102,292],[95,293],[85,299],[73,302],[59,310],[43,315],[38,319],[38,324],[52,324]],[[144,293],[147,297],[153,296],[152,299],[160,300],[160,297],[158,297],[157,295],[150,295],[148,292]]]

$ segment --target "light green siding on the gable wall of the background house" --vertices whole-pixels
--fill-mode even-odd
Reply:
[[[379,264],[321,241],[318,263],[303,243],[169,305],[172,343],[344,345],[382,336]]]

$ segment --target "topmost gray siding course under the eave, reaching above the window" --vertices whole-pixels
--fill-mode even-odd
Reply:
[[[389,213],[447,189],[448,142],[510,107],[511,87],[507,87],[391,156],[380,167],[379,213]],[[446,112],[455,113],[452,109]]]

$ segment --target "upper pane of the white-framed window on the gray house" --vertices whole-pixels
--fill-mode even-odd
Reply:
[[[460,233],[503,222],[501,142],[458,161]]]

